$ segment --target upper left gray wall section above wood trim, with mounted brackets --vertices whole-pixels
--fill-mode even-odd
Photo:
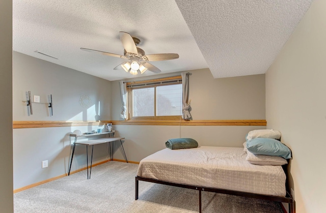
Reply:
[[[19,52],[13,52],[13,60],[14,120],[111,119],[110,81]],[[47,107],[43,104],[33,104],[33,115],[28,116],[22,102],[26,100],[26,91],[31,91],[32,100],[34,95],[40,96],[41,102],[47,102],[47,96],[51,94],[53,116],[48,116]],[[79,104],[80,97],[85,95],[91,99],[88,108]]]

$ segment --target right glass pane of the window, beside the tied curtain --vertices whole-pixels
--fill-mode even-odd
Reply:
[[[156,115],[181,115],[182,84],[156,87]]]

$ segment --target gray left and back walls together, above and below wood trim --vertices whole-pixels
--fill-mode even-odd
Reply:
[[[98,114],[95,110],[98,106],[101,120],[119,120],[119,81],[106,81],[18,52],[14,52],[13,63],[14,120],[94,120]],[[213,79],[208,69],[194,70],[191,73],[189,98],[192,99],[194,119],[265,119],[264,75]],[[37,104],[33,105],[33,115],[28,116],[26,106],[22,102],[28,90],[32,96],[39,95],[41,101],[46,101],[46,96],[52,94],[52,117],[48,116],[45,106]],[[79,105],[82,95],[88,95],[94,100],[91,109],[84,109]],[[96,105],[98,102],[100,104]],[[116,135],[126,138],[123,143],[128,160],[135,162],[165,148],[165,142],[169,138],[192,137],[198,140],[200,145],[240,147],[246,133],[264,128],[114,126]],[[87,132],[92,129],[96,130],[97,127],[14,129],[14,189],[67,173],[71,154],[69,133],[74,130]],[[94,146],[94,163],[109,158],[106,148],[106,144]],[[85,149],[85,146],[77,146],[72,171],[86,166]],[[124,159],[120,146],[115,146],[114,158]],[[41,168],[43,160],[48,160],[48,168]]]

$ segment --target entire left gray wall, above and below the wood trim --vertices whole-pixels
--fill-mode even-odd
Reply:
[[[53,116],[47,106],[33,104],[33,115],[28,116],[25,92],[39,95],[47,102],[52,94]],[[18,52],[13,52],[13,119],[94,121],[111,120],[111,82],[76,70],[65,68]],[[91,99],[89,108],[79,104],[81,96]],[[14,189],[57,177],[68,172],[71,153],[69,133],[74,130],[88,132],[97,126],[33,128],[13,130]],[[102,126],[100,126],[102,128]],[[93,163],[107,158],[106,144],[94,147]],[[86,167],[86,147],[76,147],[71,170]],[[42,169],[42,161],[48,167]],[[86,175],[86,172],[85,172]]]

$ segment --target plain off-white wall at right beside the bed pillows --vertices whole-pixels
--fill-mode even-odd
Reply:
[[[326,1],[316,0],[266,73],[267,128],[292,150],[296,212],[326,212]]]

